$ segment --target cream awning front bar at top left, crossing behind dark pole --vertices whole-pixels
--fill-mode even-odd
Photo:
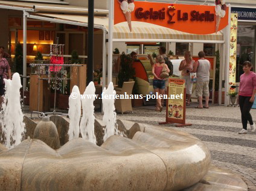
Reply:
[[[52,1],[51,4],[43,4],[37,2],[20,2],[20,1],[0,1],[0,8],[13,10],[27,10],[27,11],[43,11],[45,13],[74,13],[74,14],[88,14],[88,8],[67,5],[62,1],[62,4],[56,4]],[[55,4],[53,4],[55,3]],[[108,14],[109,10],[95,8],[95,14]]]

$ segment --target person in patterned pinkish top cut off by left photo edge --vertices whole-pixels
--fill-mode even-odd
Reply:
[[[2,107],[2,102],[4,101],[4,79],[11,79],[11,68],[8,64],[8,61],[3,58],[2,53],[0,53],[0,108]]]

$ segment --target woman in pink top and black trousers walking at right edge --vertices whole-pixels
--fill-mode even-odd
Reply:
[[[247,123],[251,125],[251,131],[255,132],[256,128],[252,121],[250,110],[254,103],[256,94],[256,74],[251,71],[252,63],[245,61],[243,63],[243,71],[245,72],[240,76],[240,87],[239,87],[239,105],[242,114],[243,129],[239,134],[247,133]]]

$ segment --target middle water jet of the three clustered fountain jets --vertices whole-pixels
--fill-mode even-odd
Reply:
[[[80,122],[80,133],[83,139],[96,144],[96,137],[94,134],[94,100],[95,100],[95,86],[91,81],[83,93],[82,107],[83,117]]]

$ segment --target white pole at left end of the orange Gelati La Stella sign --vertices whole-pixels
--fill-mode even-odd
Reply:
[[[113,28],[114,28],[114,0],[109,0],[109,43],[107,54],[107,83],[112,81],[112,50],[113,50]],[[108,85],[107,84],[107,85]]]

